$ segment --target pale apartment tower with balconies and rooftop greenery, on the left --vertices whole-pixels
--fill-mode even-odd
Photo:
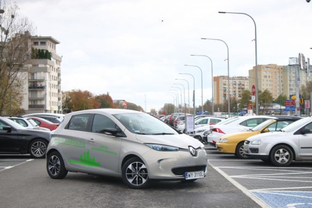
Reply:
[[[26,113],[62,113],[61,61],[53,37],[31,36],[28,82],[21,108]]]

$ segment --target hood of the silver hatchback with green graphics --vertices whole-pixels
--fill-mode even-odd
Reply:
[[[137,140],[143,143],[162,144],[182,149],[188,149],[189,146],[195,149],[203,146],[197,139],[184,133],[174,135],[142,135],[137,134]]]

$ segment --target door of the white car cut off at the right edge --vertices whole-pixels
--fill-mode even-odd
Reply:
[[[299,134],[300,157],[312,160],[312,123],[304,126],[302,130],[309,131],[305,134]]]

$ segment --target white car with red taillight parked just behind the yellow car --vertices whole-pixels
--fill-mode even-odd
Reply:
[[[226,120],[222,124],[210,125],[210,132],[204,133],[204,140],[215,147],[221,136],[227,133],[247,131],[271,118],[274,119],[274,117],[266,115],[237,116],[231,120]]]

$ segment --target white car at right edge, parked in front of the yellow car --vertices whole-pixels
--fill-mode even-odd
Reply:
[[[312,160],[312,117],[302,118],[279,132],[249,137],[244,152],[275,166],[289,166],[292,160]]]

